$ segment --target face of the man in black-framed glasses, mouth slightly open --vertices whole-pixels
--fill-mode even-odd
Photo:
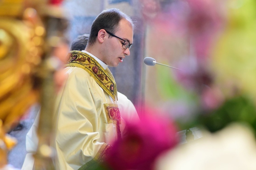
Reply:
[[[113,34],[128,41],[130,44],[133,43],[133,29],[126,19],[120,20],[119,29]],[[130,55],[129,48],[124,49],[122,47],[124,41],[117,37],[109,37],[109,34],[106,33],[106,41],[104,43],[106,44],[103,50],[103,62],[110,67],[118,66],[119,63],[123,62],[126,55]]]

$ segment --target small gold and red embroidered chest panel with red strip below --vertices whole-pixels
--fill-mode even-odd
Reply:
[[[117,104],[104,103],[108,123],[116,124],[117,138],[121,138],[121,116]]]

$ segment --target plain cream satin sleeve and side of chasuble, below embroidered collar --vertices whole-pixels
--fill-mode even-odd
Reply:
[[[108,147],[98,132],[103,103],[86,71],[77,67],[66,71],[69,76],[56,101],[55,166],[79,169]]]

